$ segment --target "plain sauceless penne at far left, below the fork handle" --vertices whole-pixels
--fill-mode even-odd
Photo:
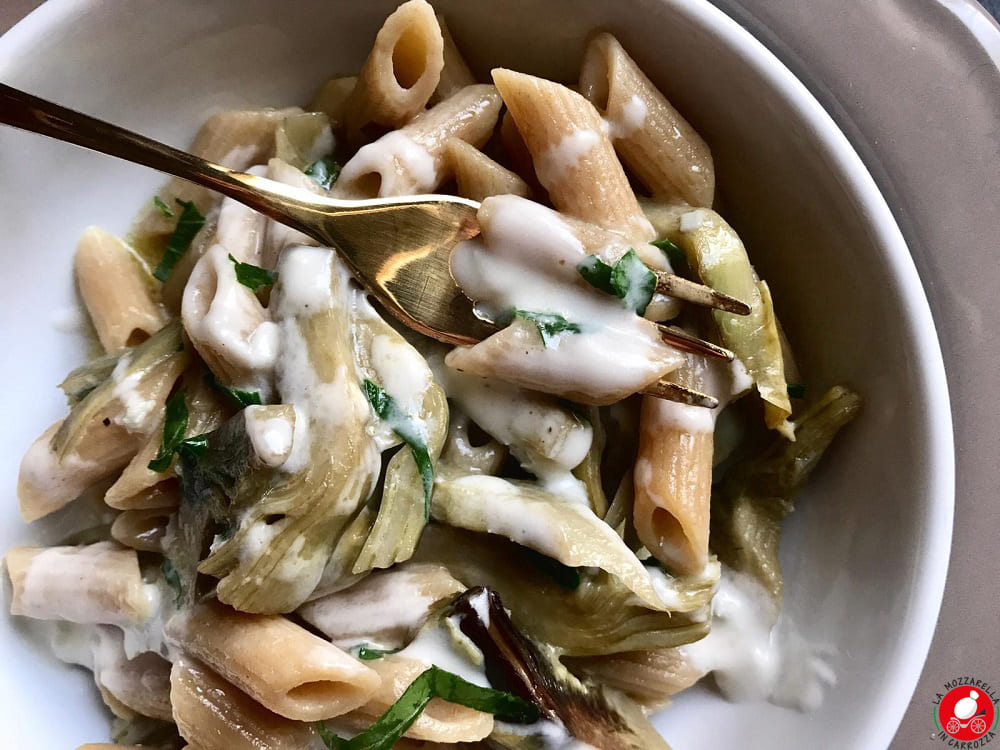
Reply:
[[[104,351],[142,343],[167,322],[153,298],[153,278],[132,250],[100,227],[88,227],[76,246],[80,296]]]

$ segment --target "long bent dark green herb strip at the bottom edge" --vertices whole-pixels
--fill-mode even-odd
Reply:
[[[345,740],[327,729],[323,722],[316,725],[316,731],[330,750],[389,750],[434,698],[484,711],[501,721],[516,724],[532,724],[540,716],[535,705],[516,695],[482,688],[451,672],[430,667],[411,682],[399,699],[361,734]]]

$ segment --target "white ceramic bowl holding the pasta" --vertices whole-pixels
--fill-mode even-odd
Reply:
[[[305,101],[357,69],[394,0],[50,0],[0,40],[0,80],[155,138],[187,143],[225,107]],[[712,146],[722,208],[774,290],[810,390],[846,382],[862,418],[830,451],[782,550],[786,607],[836,649],[811,714],[682,696],[658,725],[678,750],[883,748],[937,617],[953,502],[951,420],[920,281],[885,201],[806,89],[702,0],[439,0],[477,71],[573,80],[581,40],[615,32]],[[484,78],[484,80],[486,80]],[[161,177],[0,129],[6,305],[0,548],[31,538],[14,485],[29,442],[64,410],[55,389],[83,345],[53,326],[74,294],[82,229],[127,229]],[[11,747],[106,736],[89,675],[0,620],[0,722]]]

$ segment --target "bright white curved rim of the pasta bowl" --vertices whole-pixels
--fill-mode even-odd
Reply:
[[[8,66],[30,57],[32,49],[51,32],[76,16],[105,4],[106,0],[47,0],[0,36],[0,76]],[[924,399],[930,483],[919,518],[919,543],[923,554],[914,566],[909,617],[904,621],[894,653],[879,680],[884,702],[869,716],[863,742],[873,748],[887,747],[910,703],[923,670],[937,625],[950,561],[955,504],[955,454],[948,397],[948,382],[937,329],[927,294],[909,248],[885,197],[861,157],[833,117],[806,85],[765,44],[709,0],[656,0],[671,12],[686,17],[726,44],[732,53],[773,87],[800,118],[821,156],[845,180],[843,189],[852,197],[871,229],[889,271],[902,292],[902,310],[915,331],[913,365]],[[69,32],[71,33],[71,32]],[[943,563],[942,563],[943,561]]]

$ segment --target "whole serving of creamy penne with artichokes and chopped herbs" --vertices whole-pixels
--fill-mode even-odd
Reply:
[[[451,257],[497,324],[474,345],[182,180],[127,237],[84,232],[99,351],[21,463],[44,543],[5,558],[11,613],[114,716],[81,747],[665,748],[649,714],[702,678],[803,709],[835,679],[787,635],[779,538],[859,397],[803,381],[707,144],[614,36],[572,86],[489,79],[408,0],[357,75],[192,147],[319,195],[480,202]]]

